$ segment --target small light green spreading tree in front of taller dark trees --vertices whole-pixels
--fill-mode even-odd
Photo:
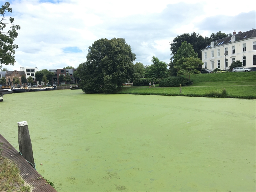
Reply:
[[[190,75],[200,73],[200,71],[196,70],[196,68],[198,68],[198,65],[203,65],[201,59],[195,57],[182,57],[176,62],[174,68],[178,70],[178,76],[186,75],[188,76],[188,79],[190,79]]]

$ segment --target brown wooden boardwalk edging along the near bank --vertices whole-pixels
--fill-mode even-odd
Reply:
[[[31,185],[32,192],[56,192],[56,190],[43,179],[20,153],[0,134],[0,143],[3,143],[2,156],[12,160],[20,169],[20,176],[28,184]]]

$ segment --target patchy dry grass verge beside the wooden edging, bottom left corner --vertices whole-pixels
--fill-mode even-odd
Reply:
[[[24,180],[20,177],[20,170],[16,164],[1,156],[2,143],[0,143],[0,191],[11,192],[14,189],[18,192],[30,192],[29,185],[24,186]]]

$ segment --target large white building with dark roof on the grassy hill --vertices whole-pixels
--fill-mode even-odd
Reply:
[[[234,31],[233,36],[214,41],[202,50],[202,68],[228,70],[236,60],[240,60],[244,68],[256,71],[256,29],[238,34]]]

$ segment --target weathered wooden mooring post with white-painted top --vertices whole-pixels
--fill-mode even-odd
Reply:
[[[31,163],[32,166],[34,166],[35,168],[32,144],[29,136],[27,121],[18,122],[18,141],[20,153],[22,154],[24,159]]]

